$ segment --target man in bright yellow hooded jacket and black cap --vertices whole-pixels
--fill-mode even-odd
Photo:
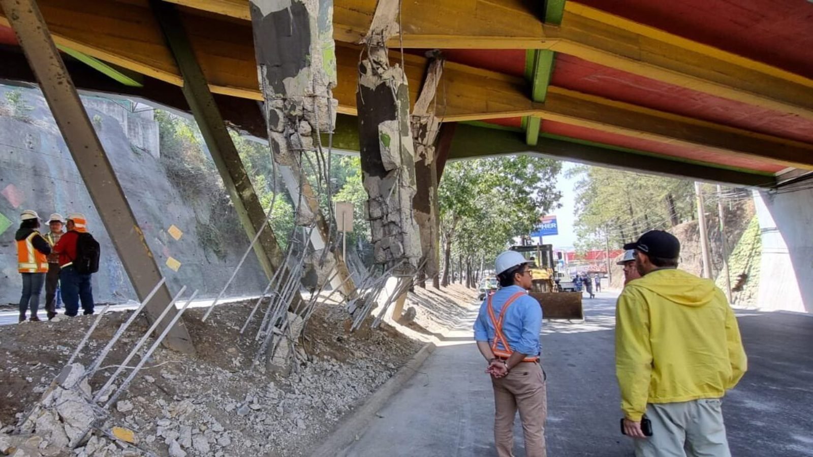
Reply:
[[[635,250],[641,278],[615,310],[624,433],[637,457],[730,457],[721,398],[746,372],[737,319],[714,282],[677,268],[680,242],[652,230]],[[641,430],[646,415],[652,436]]]

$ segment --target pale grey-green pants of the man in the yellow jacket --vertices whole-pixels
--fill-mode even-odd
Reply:
[[[719,398],[650,403],[652,436],[635,440],[636,457],[731,457]]]

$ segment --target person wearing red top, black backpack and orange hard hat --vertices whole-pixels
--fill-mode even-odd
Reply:
[[[93,314],[93,287],[90,276],[98,271],[98,242],[88,233],[87,220],[81,213],[67,215],[67,233],[54,246],[59,254],[59,282],[62,285],[62,298],[65,302],[65,316],[79,313]]]

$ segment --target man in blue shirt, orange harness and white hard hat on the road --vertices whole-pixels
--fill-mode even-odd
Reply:
[[[519,252],[498,255],[494,271],[501,289],[489,295],[474,324],[474,339],[489,365],[494,390],[494,444],[499,457],[511,457],[514,418],[519,409],[525,455],[545,457],[547,394],[539,363],[542,309],[528,295],[530,261]]]

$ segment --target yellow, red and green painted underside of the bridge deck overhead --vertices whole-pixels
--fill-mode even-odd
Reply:
[[[265,137],[248,0],[171,2],[224,120]],[[529,151],[772,187],[782,173],[813,169],[813,59],[806,55],[813,4],[754,3],[766,4],[752,11],[702,0],[623,8],[592,0],[419,0],[403,5],[405,50],[390,59],[403,59],[414,103],[428,65],[424,51],[441,50],[436,115],[467,124],[454,129],[449,159]],[[72,56],[77,87],[188,109],[149,2],[38,4],[54,41]],[[342,115],[356,115],[355,43],[375,11],[371,0],[334,2],[333,96]],[[34,81],[7,26],[0,16],[0,78]],[[337,137],[346,137],[348,149],[358,145],[356,130],[340,120]],[[482,141],[473,145],[473,137]],[[528,147],[520,150],[520,142]]]

